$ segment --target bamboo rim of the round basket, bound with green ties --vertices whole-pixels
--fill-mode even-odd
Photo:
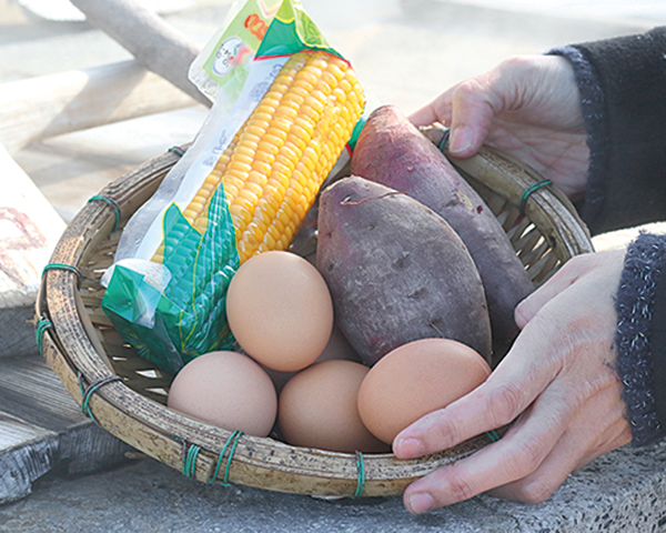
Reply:
[[[118,212],[105,202],[85,204],[65,229],[51,262],[84,269],[94,248],[114,232],[117,215],[127,221],[157,189],[179,157],[170,150],[107,185],[100,195],[111,199],[118,205]],[[521,179],[516,187],[529,187],[529,181]],[[552,204],[561,203],[547,189],[531,197],[534,200],[528,202],[531,210],[551,212]],[[592,242],[588,238],[586,241],[584,228],[578,228],[579,220],[571,213],[567,215],[568,209],[555,212],[563,220],[554,225],[573,224],[576,230],[573,237],[554,237],[575,242],[575,247],[567,248],[565,253],[573,255],[591,251]],[[44,271],[36,319],[51,323],[51,328],[41,332],[47,363],[59,375],[69,394],[93,413],[99,425],[175,470],[183,470],[188,454],[193,454],[193,464],[183,473],[202,482],[222,481],[278,492],[326,496],[397,495],[416,479],[471,455],[494,441],[488,435],[478,435],[450,450],[414,460],[398,460],[391,453],[365,454],[360,464],[359,454],[300,447],[271,438],[243,435],[238,439],[233,457],[223,457],[225,444],[234,439],[235,432],[178,413],[112,379],[115,375],[113,369],[98,352],[99,342],[95,346],[90,330],[87,330],[90,318],[82,315],[77,306],[78,291],[73,272]],[[94,394],[88,394],[92,385],[104,380],[104,386],[94,390]],[[220,475],[212,480],[212,472],[216,472],[215,466],[220,463],[225,467],[220,469]],[[224,472],[225,469],[228,472]]]

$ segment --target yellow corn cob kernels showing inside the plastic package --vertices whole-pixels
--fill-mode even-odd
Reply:
[[[222,182],[240,262],[286,249],[364,103],[363,89],[346,61],[324,51],[293,54],[183,217],[203,233],[210,200]],[[162,261],[163,248],[153,261]]]

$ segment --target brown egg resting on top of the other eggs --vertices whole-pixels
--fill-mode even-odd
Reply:
[[[333,302],[319,271],[291,252],[245,261],[226,293],[226,316],[249,355],[281,372],[312,364],[333,329]]]

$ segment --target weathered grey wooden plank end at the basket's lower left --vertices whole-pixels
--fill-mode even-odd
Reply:
[[[0,504],[48,472],[90,473],[129,450],[81,413],[39,355],[0,359]]]

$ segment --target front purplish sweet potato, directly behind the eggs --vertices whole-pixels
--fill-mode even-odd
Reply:
[[[350,177],[322,192],[317,224],[316,266],[340,329],[367,364],[433,336],[490,358],[481,278],[441,217],[403,193]]]

